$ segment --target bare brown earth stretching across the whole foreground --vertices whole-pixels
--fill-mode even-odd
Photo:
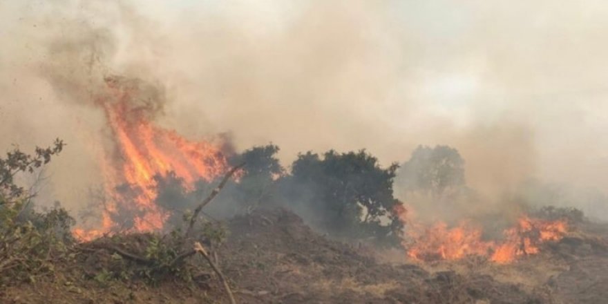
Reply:
[[[605,303],[606,227],[510,265],[480,258],[420,264],[403,252],[349,245],[312,231],[285,209],[228,221],[218,264],[238,303]],[[202,258],[199,258],[202,263]],[[88,260],[88,262],[85,262]],[[85,258],[83,263],[103,264]],[[192,283],[91,279],[74,265],[0,289],[2,303],[228,303],[216,276]]]

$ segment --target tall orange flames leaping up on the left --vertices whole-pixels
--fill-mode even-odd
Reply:
[[[227,160],[219,144],[193,142],[172,130],[153,123],[160,111],[155,95],[145,95],[137,83],[117,77],[106,79],[110,94],[99,97],[116,149],[102,160],[104,190],[108,196],[102,227],[96,230],[75,229],[75,236],[90,240],[122,223],[113,218],[133,214],[127,231],[155,231],[164,227],[169,214],[155,205],[155,176],[174,172],[186,187],[200,179],[211,180],[227,171]],[[156,102],[156,103],[155,103]],[[124,193],[117,187],[129,185]]]

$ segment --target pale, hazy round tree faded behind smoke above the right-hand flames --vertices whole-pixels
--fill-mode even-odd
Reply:
[[[450,146],[418,146],[401,166],[397,182],[406,192],[441,196],[448,189],[465,187],[464,160]]]

